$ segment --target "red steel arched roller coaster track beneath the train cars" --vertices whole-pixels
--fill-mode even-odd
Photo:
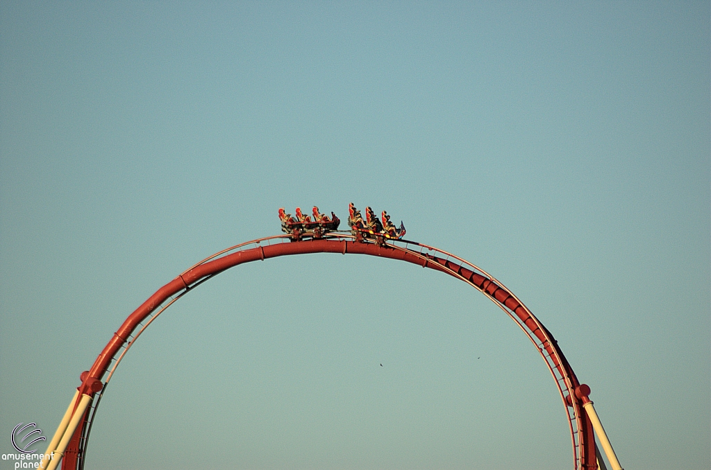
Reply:
[[[97,357],[90,371],[82,374],[80,392],[94,396],[96,392],[90,389],[92,381],[101,381],[105,376],[106,386],[128,349],[146,327],[176,300],[201,283],[242,263],[304,253],[351,253],[398,259],[442,271],[481,291],[518,324],[536,346],[555,379],[570,426],[574,469],[597,469],[594,432],[582,408],[589,399],[587,395],[579,397],[576,393],[580,384],[552,334],[518,297],[486,271],[463,258],[414,241],[387,240],[383,244],[376,244],[372,241],[355,241],[353,236],[343,233],[331,233],[322,239],[292,241],[289,235],[277,235],[248,241],[215,253],[183,271],[127,317]],[[95,405],[90,408],[84,422],[74,433],[62,462],[63,469],[82,469],[82,457],[86,452],[91,425],[104,391],[105,388],[99,393]]]

